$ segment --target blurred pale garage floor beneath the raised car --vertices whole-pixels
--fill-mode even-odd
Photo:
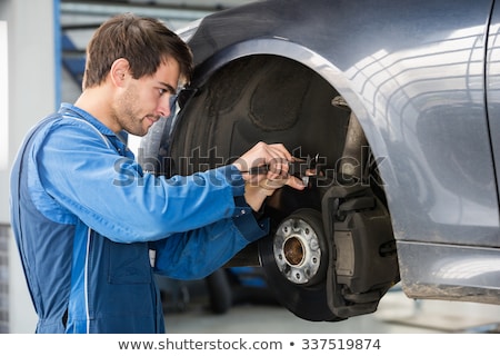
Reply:
[[[300,319],[272,304],[243,303],[217,315],[206,298],[194,298],[182,312],[167,310],[166,326],[171,334],[500,333],[500,306],[412,300],[394,288],[373,314],[339,323],[316,323]]]

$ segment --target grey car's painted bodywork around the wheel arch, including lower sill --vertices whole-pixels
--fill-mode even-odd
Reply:
[[[194,53],[196,87],[257,55],[321,76],[356,112],[378,159],[407,295],[500,304],[492,9],[491,0],[260,1],[180,34]]]

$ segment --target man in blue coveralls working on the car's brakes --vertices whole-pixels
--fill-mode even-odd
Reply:
[[[27,136],[11,174],[11,219],[37,333],[163,333],[153,273],[211,274],[267,235],[252,214],[267,196],[303,188],[288,176],[287,149],[263,142],[189,177],[142,172],[127,132],[143,136],[169,116],[191,68],[187,44],[159,21],[117,16],[89,42],[76,103]],[[248,174],[261,165],[267,174]]]

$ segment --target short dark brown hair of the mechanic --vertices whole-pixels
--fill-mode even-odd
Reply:
[[[103,22],[87,47],[83,88],[100,85],[119,58],[129,61],[134,79],[152,76],[170,58],[179,63],[181,79],[191,77],[191,50],[158,19],[122,13]]]

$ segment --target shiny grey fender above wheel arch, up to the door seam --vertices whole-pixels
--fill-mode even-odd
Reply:
[[[201,53],[197,61],[213,48],[224,62],[252,53],[301,61],[344,96],[376,155],[390,160],[380,169],[392,214],[401,214],[394,216],[398,239],[434,236],[441,243],[499,247],[483,85],[490,1],[398,2],[404,16],[390,9],[393,1],[299,1],[289,2],[287,11],[280,1],[268,2],[243,7],[244,16],[233,9],[202,21],[189,42]],[[228,30],[233,28],[244,31],[238,37]],[[461,227],[473,228],[476,238]]]

